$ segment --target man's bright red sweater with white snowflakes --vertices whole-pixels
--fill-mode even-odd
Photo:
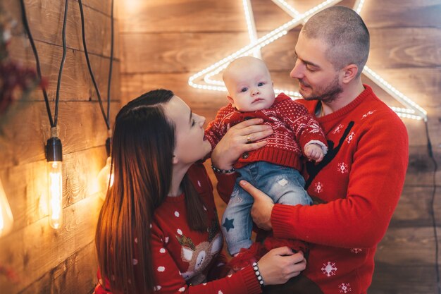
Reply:
[[[366,293],[374,254],[385,235],[404,185],[409,143],[404,123],[373,94],[317,118],[328,140],[319,164],[307,163],[306,190],[325,202],[312,206],[275,204],[275,237],[307,241],[309,259],[302,275],[322,293]],[[317,101],[297,100],[314,113]],[[228,200],[233,176],[218,176]],[[304,293],[309,292],[304,289]]]

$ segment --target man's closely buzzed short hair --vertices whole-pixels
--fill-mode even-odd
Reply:
[[[325,8],[309,18],[302,33],[328,45],[325,56],[336,70],[356,64],[357,77],[363,71],[369,55],[369,31],[352,9],[344,6]]]

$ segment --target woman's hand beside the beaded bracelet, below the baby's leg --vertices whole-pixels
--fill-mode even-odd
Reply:
[[[298,276],[306,268],[303,252],[293,253],[288,247],[279,247],[263,255],[257,262],[265,285],[279,285]]]

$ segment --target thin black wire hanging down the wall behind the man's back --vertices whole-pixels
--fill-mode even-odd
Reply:
[[[430,159],[433,162],[433,193],[430,199],[430,216],[432,216],[432,225],[433,225],[433,236],[435,238],[435,272],[436,272],[436,281],[437,281],[437,293],[441,294],[441,285],[440,285],[440,268],[438,267],[438,252],[440,245],[438,244],[438,233],[437,233],[437,223],[435,218],[435,195],[436,195],[436,173],[438,170],[438,165],[433,157],[433,149],[432,143],[430,142],[429,128],[427,121],[424,123],[426,125],[426,136],[427,136],[427,148]]]

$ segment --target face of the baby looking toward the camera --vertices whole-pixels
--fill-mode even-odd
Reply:
[[[239,111],[256,111],[273,105],[273,80],[268,70],[259,64],[235,68],[225,85],[232,106]]]

